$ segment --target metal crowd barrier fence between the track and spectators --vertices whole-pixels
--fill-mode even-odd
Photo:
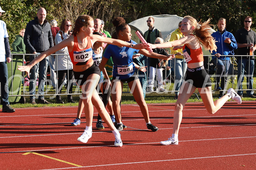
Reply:
[[[22,56],[22,64],[25,64],[25,62],[24,62],[25,61],[25,56],[35,56],[35,55],[33,55],[33,54],[12,54],[12,57],[13,56]],[[52,56],[57,56],[58,57],[60,55],[53,54]],[[63,55],[61,55],[61,56],[63,56]],[[57,57],[55,57],[55,58],[57,58]],[[205,69],[207,70],[208,74],[210,75],[210,77],[212,79],[212,85],[215,86],[216,85],[216,81],[215,80],[219,76],[219,75],[216,74],[218,67],[214,68],[214,64],[212,64],[212,62],[210,61],[211,57],[212,56],[204,56],[204,67],[205,67]],[[251,56],[238,56],[238,55],[234,55],[234,56],[226,56],[226,57],[230,57],[231,63],[230,63],[229,69],[228,69],[228,73],[227,74],[223,74],[223,76],[228,78],[229,83],[232,83],[232,87],[234,89],[238,90],[239,89],[238,85],[239,86],[240,85],[244,85],[244,88],[243,88],[244,91],[256,90],[256,87],[255,87],[254,81],[253,81],[253,73],[252,73],[252,75],[249,75],[248,73],[246,73],[246,74],[240,76],[240,80],[238,81],[238,85],[236,87],[234,87],[234,83],[235,83],[234,80],[237,77],[239,77],[238,73],[240,73],[242,71],[242,67],[239,67],[239,68],[241,68],[240,71],[236,70],[236,67],[238,67],[238,64],[240,64],[240,66],[244,66],[245,62],[243,60],[248,58],[248,57],[251,57]],[[235,57],[238,57],[238,60],[239,61],[242,60],[243,62],[239,62],[238,63],[237,60],[235,59]],[[149,60],[149,59],[147,59],[147,60]],[[176,59],[173,59],[173,60],[176,60]],[[228,61],[228,60],[226,60],[226,61]],[[26,73],[22,72],[22,74],[14,74],[15,70],[18,71],[18,72],[20,72],[20,71],[17,70],[18,64],[15,64],[13,62],[15,62],[15,61],[12,60],[11,63],[7,63],[7,64],[11,64],[11,70],[8,71],[9,73],[11,72],[11,74],[9,74],[11,76],[9,76],[9,79],[8,79],[8,81],[9,81],[9,97],[11,97],[11,96],[24,96],[25,97],[25,96],[40,96],[40,95],[42,95],[42,94],[39,94],[38,91],[37,91],[37,93],[35,93],[35,95],[30,95],[29,91],[27,91],[28,87],[25,86],[25,81],[27,81],[26,80]],[[58,64],[58,60],[57,60],[56,63]],[[22,64],[20,64],[20,65],[22,65]],[[68,61],[67,64],[69,64],[69,61]],[[185,60],[183,60],[183,64],[185,64]],[[254,59],[251,60],[251,62],[249,62],[249,65],[245,65],[246,68],[247,67],[249,68],[247,70],[249,73],[250,73],[250,71],[253,71],[253,69],[254,69],[254,67],[252,67],[252,64],[254,64]],[[47,65],[47,63],[46,63],[46,65]],[[165,92],[175,93],[175,92],[177,92],[177,90],[175,90],[175,86],[172,86],[172,89],[170,89],[171,86],[168,85],[168,84],[169,83],[170,84],[173,83],[173,81],[175,82],[175,77],[176,77],[175,67],[176,67],[176,65],[174,64],[174,66],[173,66],[173,65],[170,64],[170,61],[168,61],[168,62],[166,62],[165,67],[167,68],[167,66],[171,67],[171,72],[170,72],[169,76],[165,76],[163,78],[163,79],[166,80],[166,84],[164,85],[164,87],[166,89]],[[147,70],[149,70],[149,67],[147,68]],[[174,72],[174,74],[172,72]],[[182,74],[182,81],[184,80],[184,77],[186,76],[185,75],[186,70],[183,70],[183,73],[184,74]],[[46,73],[45,74],[47,74],[47,69],[46,69]],[[58,77],[58,71],[56,72],[56,74],[57,74],[57,77]],[[166,74],[167,74],[167,72],[165,70],[165,75]],[[69,74],[67,74],[67,76],[69,76]],[[138,76],[140,77],[140,75],[138,75]],[[158,76],[159,75],[156,74],[156,78]],[[250,83],[249,80],[247,80],[246,82],[243,81],[241,83],[241,81],[244,80],[244,77],[249,77],[253,86],[249,86],[249,83]],[[16,78],[16,79],[14,79],[14,78]],[[148,73],[147,73],[147,78],[148,78]],[[173,79],[173,81],[171,81],[171,79]],[[68,80],[69,79],[67,77],[67,81]],[[23,82],[22,85],[20,85],[18,87],[14,87],[14,85],[17,85],[17,83],[20,83],[18,81]],[[30,82],[34,81],[34,84],[36,85],[36,80],[28,80],[28,81],[30,81]],[[148,81],[147,81],[147,83],[148,83]],[[68,93],[69,87],[67,87],[67,90],[65,91],[65,93],[58,94],[58,88],[57,88],[58,87],[58,80],[57,80],[57,84],[56,84],[55,94],[52,94],[52,93],[49,94],[49,91],[52,88],[52,86],[50,86],[50,84],[52,84],[52,82],[50,81],[50,78],[46,76],[46,90],[44,90],[43,96],[52,96],[51,98],[54,98],[56,95],[81,95],[81,90],[80,90],[80,88],[78,86],[76,86],[76,89],[75,89],[74,93],[72,93],[72,94]],[[247,86],[247,88],[245,88],[246,87],[245,85]],[[154,85],[154,86],[156,87],[156,85]],[[251,87],[251,88],[249,88],[249,87]],[[17,92],[20,92],[20,91],[21,91],[21,94],[18,94]],[[213,90],[213,91],[215,91],[215,90]],[[224,90],[222,89],[222,91],[226,91],[226,88]],[[127,86],[127,91],[124,90],[123,93],[130,93],[128,86]]]

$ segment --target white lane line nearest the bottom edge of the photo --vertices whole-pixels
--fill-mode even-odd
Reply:
[[[69,167],[69,168],[54,168],[54,169],[43,169],[43,170],[90,168],[90,167],[98,167],[98,166],[142,164],[142,163],[152,163],[152,162],[155,163],[155,162],[166,162],[166,161],[176,161],[176,160],[191,160],[191,159],[206,159],[206,158],[237,157],[237,156],[246,156],[246,155],[256,155],[256,153],[236,154],[236,155],[221,155],[221,156],[211,156],[211,157],[197,157],[197,158],[181,158],[181,159],[167,159],[167,160],[152,160],[152,161],[143,161],[143,162],[128,162],[128,163],[119,163],[119,164],[91,165],[91,166],[80,166],[80,167]]]

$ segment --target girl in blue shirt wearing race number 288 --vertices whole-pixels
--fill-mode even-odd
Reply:
[[[125,23],[125,20],[122,17],[114,18],[113,24],[116,27],[116,33],[119,40],[127,41],[132,44],[136,42],[131,40],[132,34],[130,33],[130,27]],[[123,83],[127,81],[128,86],[133,93],[135,101],[139,104],[140,110],[143,114],[143,117],[146,121],[146,126],[152,131],[157,131],[158,128],[150,123],[148,107],[144,100],[144,95],[138,75],[135,73],[135,67],[139,70],[145,69],[145,67],[140,67],[137,64],[135,65],[132,62],[133,53],[141,53],[143,55],[161,58],[164,60],[170,60],[170,56],[163,56],[156,54],[154,52],[149,53],[147,50],[135,50],[129,47],[118,46],[118,45],[109,45],[102,57],[100,63],[100,70],[103,69],[107,60],[112,57],[113,59],[113,79],[111,82],[111,96],[113,102],[113,111],[116,117],[117,125],[116,128],[118,131],[123,130],[122,121],[121,121],[121,110],[119,103],[121,101]]]

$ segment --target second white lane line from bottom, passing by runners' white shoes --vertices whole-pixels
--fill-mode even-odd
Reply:
[[[230,138],[213,138],[213,139],[198,139],[198,140],[186,140],[186,141],[179,141],[179,142],[194,142],[194,141],[209,141],[209,140],[233,140],[233,139],[240,139],[240,138],[255,138],[256,136],[247,136],[247,137],[230,137]],[[128,145],[148,145],[148,144],[156,144],[159,142],[149,142],[149,143],[131,143],[131,144],[124,144],[123,146]],[[85,144],[86,145],[86,144]],[[91,145],[91,143],[90,143]],[[0,152],[0,153],[21,153],[21,152],[38,152],[38,151],[55,151],[55,150],[63,150],[63,149],[80,149],[80,148],[96,148],[96,147],[111,147],[114,145],[105,145],[105,146],[85,146],[85,147],[69,147],[69,148],[55,148],[55,149],[39,149],[39,150],[26,150],[26,151],[12,151],[12,152]]]

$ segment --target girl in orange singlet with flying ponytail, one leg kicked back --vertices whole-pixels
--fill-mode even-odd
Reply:
[[[153,49],[174,47],[174,50],[176,50],[183,48],[183,55],[187,62],[187,76],[184,83],[182,83],[180,95],[175,104],[172,136],[166,141],[161,141],[162,145],[178,145],[178,130],[182,120],[182,109],[196,89],[198,89],[204,106],[210,114],[217,112],[230,98],[241,104],[240,96],[232,88],[222,98],[213,102],[212,85],[203,66],[203,52],[200,44],[202,43],[206,50],[213,51],[217,49],[209,32],[211,28],[209,22],[210,19],[201,23],[200,27],[200,23],[198,24],[196,19],[185,16],[181,23],[181,32],[185,37],[171,42],[151,45]],[[181,44],[185,45],[180,46]]]

